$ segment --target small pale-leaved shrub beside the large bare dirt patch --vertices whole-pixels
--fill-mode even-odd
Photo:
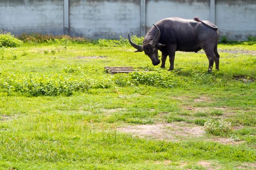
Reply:
[[[227,136],[231,132],[231,122],[220,120],[208,119],[204,123],[204,128],[207,133],[215,136]]]

